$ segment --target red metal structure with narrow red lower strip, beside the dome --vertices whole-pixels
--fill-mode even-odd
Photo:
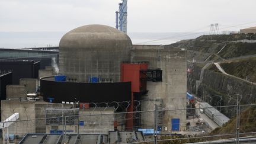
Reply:
[[[143,75],[142,71],[148,69],[148,63],[121,63],[121,82],[132,82],[132,95],[131,105],[128,108],[128,112],[133,112],[133,93],[134,92],[146,92],[146,75]],[[133,129],[133,113],[129,113],[126,116],[126,129]]]

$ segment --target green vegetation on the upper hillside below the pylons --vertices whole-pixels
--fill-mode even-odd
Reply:
[[[214,54],[210,56],[209,60],[219,61],[232,57],[255,55],[256,43],[242,43],[239,41],[246,39],[255,40],[256,34],[204,35],[192,40],[178,41],[177,43],[165,46],[165,48],[183,47],[187,48],[187,50],[200,52],[202,53],[201,56]],[[223,46],[225,46],[224,49],[222,49]],[[190,53],[188,53],[188,57],[198,59],[198,57],[193,55],[190,56]]]

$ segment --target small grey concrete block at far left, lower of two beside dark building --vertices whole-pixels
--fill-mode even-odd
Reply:
[[[27,99],[27,92],[24,85],[7,85],[7,99],[22,98]]]

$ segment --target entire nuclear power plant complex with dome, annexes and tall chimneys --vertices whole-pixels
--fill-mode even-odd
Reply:
[[[134,45],[126,33],[123,0],[116,28],[84,25],[59,47],[0,49],[4,143],[145,142],[184,132],[186,50]]]

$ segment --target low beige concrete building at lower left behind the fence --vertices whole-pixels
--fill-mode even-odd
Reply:
[[[14,113],[19,113],[20,118],[12,124],[8,131],[15,135],[23,136],[26,133],[50,133],[50,126],[46,125],[46,108],[61,108],[62,104],[46,103],[44,101],[19,101],[4,100],[1,101],[1,117],[2,121],[7,119]],[[63,105],[63,108],[71,108],[71,104]],[[51,117],[62,116],[62,113],[54,113]],[[31,120],[40,119],[40,120]],[[20,121],[27,120],[27,121]],[[61,125],[62,127],[62,125]],[[61,128],[62,129],[62,128]],[[5,129],[6,132],[6,129]]]

